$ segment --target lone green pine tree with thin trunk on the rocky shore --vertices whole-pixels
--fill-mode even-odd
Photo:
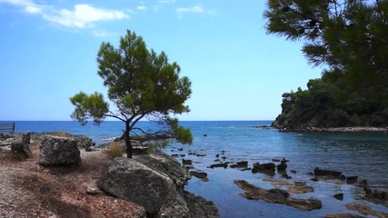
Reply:
[[[136,127],[144,118],[160,124],[161,128],[152,134],[164,132],[174,135],[181,143],[192,143],[190,129],[179,126],[178,120],[170,116],[189,112],[184,102],[192,93],[191,82],[185,76],[179,77],[179,65],[170,64],[164,52],[149,51],[141,36],[127,30],[118,48],[110,43],[100,46],[97,63],[114,110],[109,109],[103,94],[81,92],[70,98],[75,105],[73,119],[81,124],[88,120],[100,124],[105,117],[124,122],[126,153],[130,158],[134,130],[150,134]]]

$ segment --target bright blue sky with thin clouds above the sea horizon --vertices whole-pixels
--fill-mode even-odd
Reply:
[[[106,94],[95,61],[126,29],[192,81],[181,120],[274,120],[321,69],[303,42],[266,35],[258,0],[0,0],[0,120],[70,120],[69,97]]]

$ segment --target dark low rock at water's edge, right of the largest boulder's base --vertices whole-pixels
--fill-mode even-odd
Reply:
[[[206,217],[206,218],[218,218],[217,207],[213,202],[204,200],[201,196],[195,196],[193,193],[184,191],[184,200],[190,211],[190,218]]]

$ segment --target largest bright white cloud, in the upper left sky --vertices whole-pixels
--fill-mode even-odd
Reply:
[[[0,0],[0,3],[19,6],[25,13],[41,15],[51,23],[74,28],[89,28],[94,27],[96,22],[129,18],[129,15],[118,10],[97,8],[86,4],[76,4],[74,10],[69,10],[55,9],[51,5],[37,5],[32,0]]]

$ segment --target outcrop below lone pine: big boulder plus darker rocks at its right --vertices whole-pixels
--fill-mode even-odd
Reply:
[[[196,204],[186,201],[187,198],[197,199],[184,194],[184,185],[190,178],[190,174],[172,157],[156,151],[150,155],[134,156],[133,159],[115,158],[98,186],[106,193],[144,206],[153,217],[206,214],[205,211],[194,212],[191,208]],[[204,210],[204,207],[195,208]]]

